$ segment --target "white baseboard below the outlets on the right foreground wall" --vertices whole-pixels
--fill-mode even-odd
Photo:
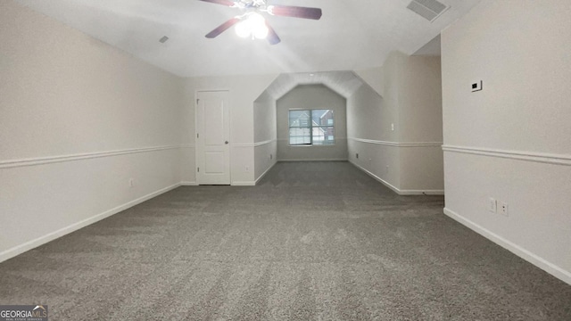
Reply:
[[[488,229],[484,228],[483,226],[479,226],[476,223],[472,222],[468,218],[464,218],[460,216],[458,213],[454,212],[453,210],[444,208],[444,214],[463,226],[467,226],[474,232],[479,235],[484,236],[488,240],[492,241],[500,245],[502,248],[516,254],[518,257],[525,259],[529,263],[533,264],[537,268],[541,268],[545,272],[549,273],[551,276],[555,276],[559,278],[559,280],[570,284],[571,285],[571,272],[566,271],[563,268],[559,268],[555,264],[551,263],[550,261],[543,259],[537,254],[534,254],[531,251],[527,251],[521,246],[517,245],[516,243],[511,243],[508,240],[504,239],[500,235],[496,235],[495,233],[489,231]]]

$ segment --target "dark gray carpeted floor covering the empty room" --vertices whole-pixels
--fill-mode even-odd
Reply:
[[[50,320],[571,320],[571,286],[347,162],[179,187],[0,263]]]

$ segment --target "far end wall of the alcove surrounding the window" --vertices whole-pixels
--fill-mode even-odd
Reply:
[[[296,86],[277,100],[277,161],[346,161],[346,100],[323,85]],[[290,109],[330,109],[335,116],[335,145],[290,146]]]

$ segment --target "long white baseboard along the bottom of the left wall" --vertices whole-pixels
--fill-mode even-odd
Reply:
[[[23,253],[25,251],[35,249],[38,246],[46,244],[50,241],[54,241],[55,239],[62,237],[63,235],[68,235],[71,232],[75,232],[82,227],[94,224],[95,222],[100,221],[103,218],[109,218],[110,216],[117,214],[122,210],[127,210],[128,208],[131,208],[137,204],[140,204],[142,202],[150,200],[153,197],[160,195],[161,193],[167,193],[170,190],[177,188],[179,185],[180,184],[175,184],[175,185],[170,185],[170,186],[165,187],[165,188],[161,188],[160,190],[158,190],[156,192],[146,194],[143,197],[139,197],[139,198],[137,198],[137,200],[133,200],[131,202],[126,202],[123,205],[117,206],[111,210],[106,210],[103,213],[95,215],[94,217],[86,218],[86,219],[81,220],[77,223],[71,224],[70,226],[65,226],[65,227],[63,227],[57,231],[54,231],[54,232],[49,233],[47,235],[40,236],[35,240],[31,240],[29,242],[22,243],[20,245],[14,246],[11,249],[8,249],[6,251],[2,251],[2,252],[0,252],[0,262],[3,262],[6,259],[12,259],[13,257],[20,255],[21,253]]]

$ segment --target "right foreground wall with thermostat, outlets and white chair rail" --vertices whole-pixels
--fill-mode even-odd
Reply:
[[[569,17],[568,0],[484,1],[443,30],[442,60],[445,212],[571,284]]]

